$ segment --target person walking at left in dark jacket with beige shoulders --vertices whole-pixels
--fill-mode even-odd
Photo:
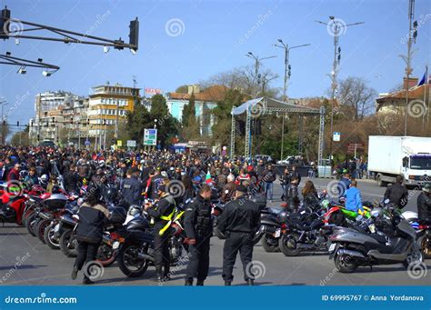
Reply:
[[[97,249],[102,242],[104,225],[108,222],[109,211],[100,200],[102,196],[98,186],[90,185],[87,188],[85,203],[79,208],[79,224],[76,227],[76,240],[78,241],[78,255],[76,256],[75,265],[72,269],[72,279],[76,279],[78,271],[84,264],[84,281],[85,285],[92,285],[94,282],[88,277],[91,275],[87,263],[95,261]]]

